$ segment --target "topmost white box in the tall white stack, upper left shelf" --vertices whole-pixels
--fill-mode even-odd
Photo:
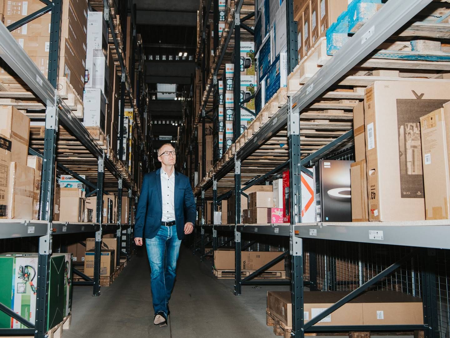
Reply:
[[[103,53],[107,52],[105,47],[108,45],[108,26],[103,18],[103,12],[88,12],[86,35],[87,54],[90,54],[94,49],[103,50]]]

